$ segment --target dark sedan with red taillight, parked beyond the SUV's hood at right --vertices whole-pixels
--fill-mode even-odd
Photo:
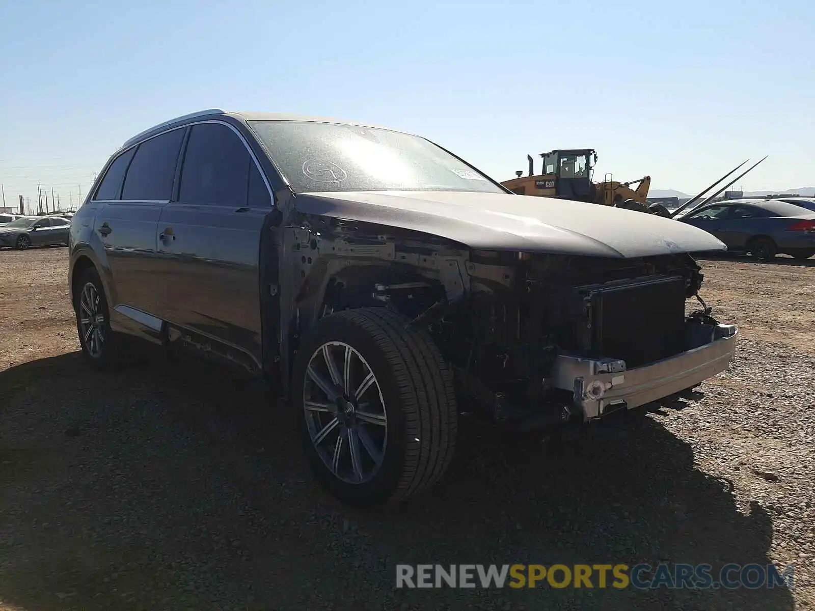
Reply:
[[[736,253],[772,259],[777,253],[815,255],[815,212],[778,200],[727,200],[707,204],[677,220],[716,235]]]

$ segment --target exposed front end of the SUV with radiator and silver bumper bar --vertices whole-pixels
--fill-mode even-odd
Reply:
[[[434,325],[463,404],[522,429],[640,407],[724,371],[738,331],[698,299],[687,254],[619,261],[471,253],[469,291]],[[703,302],[702,302],[703,303]],[[687,308],[690,310],[690,308]]]

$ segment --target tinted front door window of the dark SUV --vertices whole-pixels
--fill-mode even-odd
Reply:
[[[184,154],[178,200],[245,205],[251,161],[244,143],[226,125],[193,125]]]

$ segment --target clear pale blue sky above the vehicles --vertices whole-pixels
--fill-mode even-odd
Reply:
[[[0,182],[76,198],[131,135],[200,110],[425,135],[494,178],[593,147],[595,179],[815,183],[815,2],[0,2]]]

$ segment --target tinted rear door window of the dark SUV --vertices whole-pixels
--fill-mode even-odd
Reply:
[[[183,128],[139,144],[127,170],[122,200],[170,200]]]

